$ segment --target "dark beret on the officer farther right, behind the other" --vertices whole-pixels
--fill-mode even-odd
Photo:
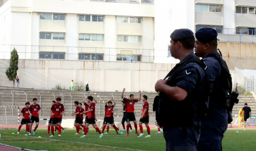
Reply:
[[[202,43],[213,41],[218,36],[218,33],[213,28],[202,28],[196,31],[196,39]]]

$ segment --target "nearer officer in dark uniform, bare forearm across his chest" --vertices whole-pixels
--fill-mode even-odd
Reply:
[[[177,69],[176,67],[186,63],[188,59],[192,57],[198,59],[193,52],[195,38],[190,29],[176,29],[170,38],[171,55],[180,60],[180,63],[174,67],[174,71]],[[155,84],[156,92],[166,95],[166,98],[160,98],[159,101],[170,103],[164,106],[166,107],[166,114],[160,115],[165,116],[166,119],[165,124],[163,124],[166,151],[195,151],[200,129],[192,123],[194,114],[190,111],[193,110],[192,102],[198,101],[198,96],[202,90],[204,69],[197,63],[190,62],[184,65],[177,76],[172,76],[170,75],[167,80],[158,80]]]

